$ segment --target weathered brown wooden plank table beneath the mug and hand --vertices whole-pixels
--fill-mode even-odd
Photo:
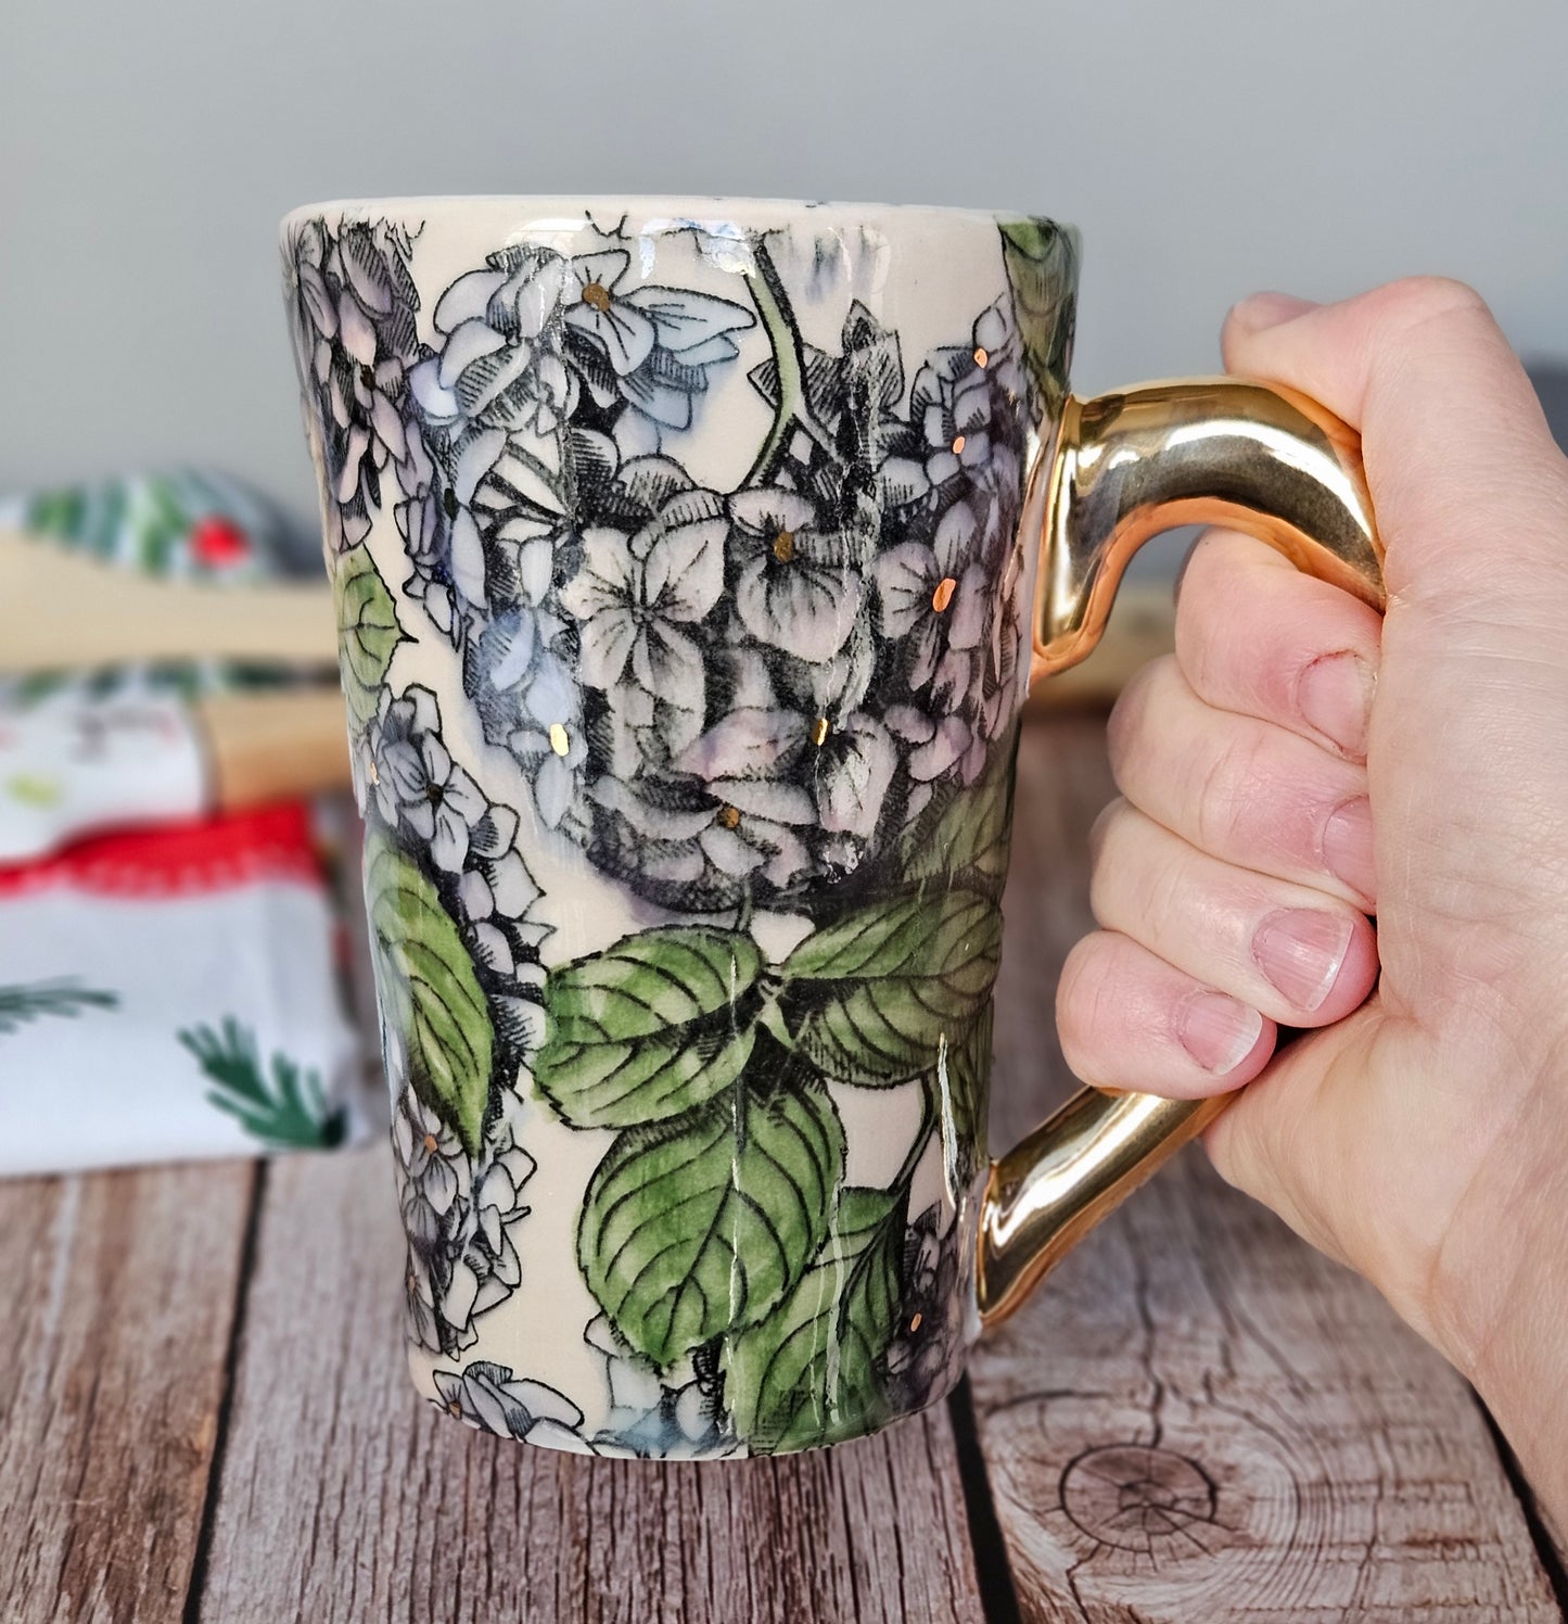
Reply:
[[[1068,1086],[1052,987],[1110,794],[1034,721],[993,1138]],[[0,1618],[1506,1619],[1563,1570],[1458,1376],[1200,1151],[828,1453],[591,1462],[476,1436],[401,1359],[383,1147],[0,1184]]]

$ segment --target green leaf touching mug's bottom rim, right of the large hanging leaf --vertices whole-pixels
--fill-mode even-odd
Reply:
[[[898,1327],[902,1231],[894,1194],[842,1190],[800,1283],[730,1341],[726,1397],[752,1450],[812,1449],[891,1419],[877,1361]]]

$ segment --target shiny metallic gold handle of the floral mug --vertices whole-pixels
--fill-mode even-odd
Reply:
[[[1381,611],[1383,547],[1360,438],[1294,390],[1242,378],[1144,383],[1063,404],[1045,479],[1032,676],[1099,641],[1128,559],[1178,525],[1221,523]],[[980,1322],[1011,1314],[1088,1229],[1226,1108],[1079,1090],[990,1164]]]

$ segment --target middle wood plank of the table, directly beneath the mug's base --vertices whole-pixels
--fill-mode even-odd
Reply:
[[[948,1411],[831,1452],[581,1460],[403,1367],[381,1148],[269,1169],[201,1596],[330,1619],[980,1619]]]

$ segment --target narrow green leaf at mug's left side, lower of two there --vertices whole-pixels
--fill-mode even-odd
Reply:
[[[365,848],[365,908],[381,1020],[407,1051],[414,1093],[471,1156],[490,1096],[490,1007],[435,885],[386,841]]]

